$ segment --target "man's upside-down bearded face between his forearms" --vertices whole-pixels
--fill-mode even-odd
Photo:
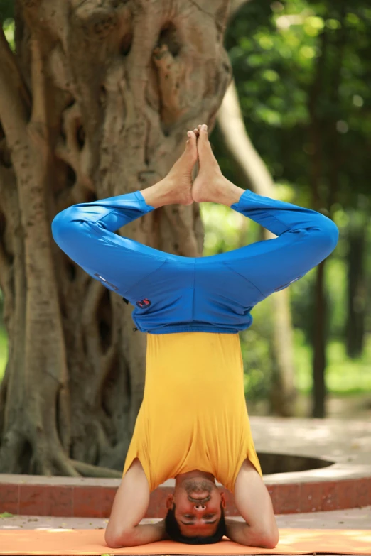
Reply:
[[[204,478],[185,479],[168,499],[175,503],[175,517],[181,533],[187,537],[213,535],[225,508],[224,494],[213,481]]]

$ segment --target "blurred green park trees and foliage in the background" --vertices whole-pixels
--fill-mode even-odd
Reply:
[[[0,15],[14,48],[12,6],[2,0]],[[277,361],[271,298],[241,334],[249,413],[282,415],[288,403],[295,415],[371,415],[371,8],[360,0],[235,0],[232,9],[225,46],[252,148],[243,165],[220,119],[212,142],[222,171],[254,189],[255,152],[276,197],[319,210],[340,229],[334,253],[281,298],[293,334],[284,338],[286,362]],[[200,209],[205,255],[264,237],[226,207]],[[6,350],[1,327],[0,376]]]

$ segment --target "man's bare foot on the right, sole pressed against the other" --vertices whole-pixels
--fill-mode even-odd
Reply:
[[[208,138],[208,126],[198,126],[198,176],[192,187],[195,202],[217,202],[233,205],[238,202],[243,190],[222,175]]]

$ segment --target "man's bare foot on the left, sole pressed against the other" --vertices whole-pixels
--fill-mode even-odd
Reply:
[[[185,150],[168,175],[141,192],[148,205],[155,208],[163,205],[192,205],[192,170],[198,159],[195,131],[188,131]]]

